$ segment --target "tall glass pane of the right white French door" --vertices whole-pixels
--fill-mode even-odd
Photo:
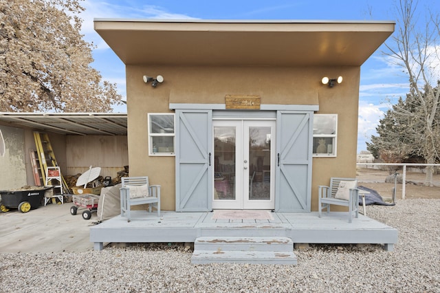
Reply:
[[[249,127],[249,199],[270,199],[270,127]]]

